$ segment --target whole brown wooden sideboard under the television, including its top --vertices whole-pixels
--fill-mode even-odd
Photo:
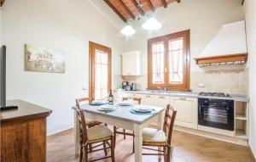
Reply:
[[[1,111],[1,159],[5,162],[46,161],[46,119],[50,109],[10,100],[19,109]]]

